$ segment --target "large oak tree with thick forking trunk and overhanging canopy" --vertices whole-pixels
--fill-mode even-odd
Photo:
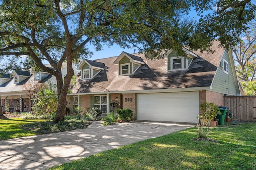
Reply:
[[[210,50],[216,37],[229,47],[254,9],[250,0],[0,0],[0,56],[16,67],[28,56],[26,68],[36,65],[56,77],[56,123],[64,120],[72,63],[92,55],[88,44],[96,50],[102,44],[137,47],[148,59],[163,57],[167,49],[186,56],[183,46]],[[198,20],[190,17],[192,10]]]

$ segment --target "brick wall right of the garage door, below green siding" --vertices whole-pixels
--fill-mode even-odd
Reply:
[[[208,90],[204,90],[199,92],[199,114],[202,114],[200,105],[204,102],[214,103],[218,106],[224,105],[224,95],[222,93],[212,92]]]

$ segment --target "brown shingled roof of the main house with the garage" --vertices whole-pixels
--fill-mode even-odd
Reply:
[[[168,71],[167,58],[151,61],[143,54],[135,53],[132,56],[136,60],[141,59],[145,64],[132,75],[118,76],[118,65],[114,64],[118,56],[98,59],[96,61],[105,63],[107,69],[101,70],[90,80],[81,80],[78,73],[76,86],[71,86],[70,89],[72,93],[96,93],[209,87],[224,53],[224,49],[218,45],[217,41],[212,45],[214,53],[193,51],[198,57],[192,61],[188,70]]]

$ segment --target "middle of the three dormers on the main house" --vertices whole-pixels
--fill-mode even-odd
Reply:
[[[142,58],[123,51],[114,61],[114,64],[118,64],[118,75],[124,76],[133,74],[140,65],[145,63]]]

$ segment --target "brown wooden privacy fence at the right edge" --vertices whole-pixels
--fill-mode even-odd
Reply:
[[[233,113],[232,120],[256,121],[256,96],[224,96],[224,106]]]

